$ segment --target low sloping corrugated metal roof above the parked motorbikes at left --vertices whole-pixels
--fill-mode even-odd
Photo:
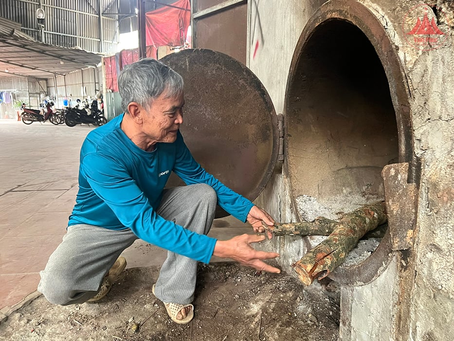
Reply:
[[[0,18],[0,72],[49,78],[96,66],[101,55],[48,45],[20,31],[20,24]]]

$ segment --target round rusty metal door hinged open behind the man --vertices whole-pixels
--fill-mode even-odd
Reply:
[[[254,200],[272,175],[277,116],[259,79],[223,53],[188,49],[161,61],[184,80],[181,132],[194,158],[219,181]],[[184,185],[173,174],[167,187]],[[228,215],[218,208],[216,218]]]

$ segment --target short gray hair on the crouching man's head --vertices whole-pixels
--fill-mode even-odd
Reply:
[[[131,102],[137,102],[148,110],[152,101],[164,92],[168,97],[180,95],[183,78],[164,63],[144,58],[122,70],[118,76],[118,89],[123,111],[127,112]]]

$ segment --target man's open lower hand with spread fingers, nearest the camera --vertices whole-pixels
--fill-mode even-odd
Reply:
[[[265,236],[254,234],[242,234],[232,239],[218,240],[213,252],[214,256],[221,258],[232,258],[241,265],[251,266],[257,271],[280,273],[277,267],[263,262],[264,259],[279,257],[278,253],[254,250],[251,243],[258,243],[265,240]]]

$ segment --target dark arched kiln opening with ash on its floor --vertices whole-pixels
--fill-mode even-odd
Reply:
[[[338,218],[383,200],[381,170],[399,162],[390,85],[374,46],[346,20],[322,22],[298,46],[285,104],[293,206],[302,220]],[[380,238],[369,242],[363,251]]]

